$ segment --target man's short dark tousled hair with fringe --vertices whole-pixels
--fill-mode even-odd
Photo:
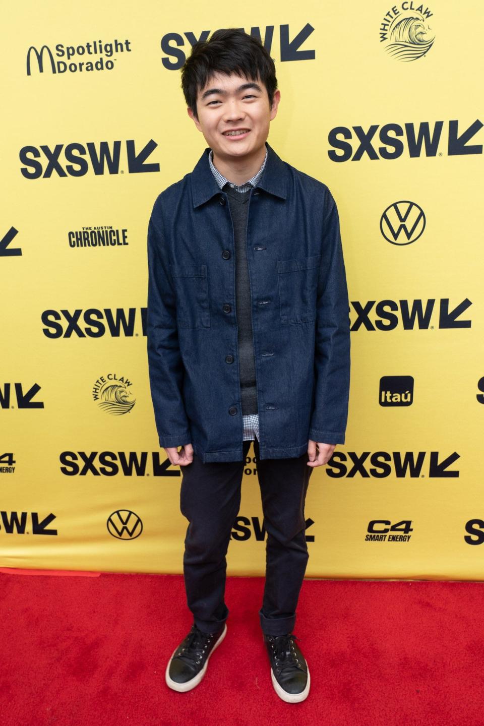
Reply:
[[[216,30],[207,41],[198,41],[181,69],[181,88],[186,105],[197,115],[197,95],[214,73],[237,73],[251,81],[259,77],[272,106],[277,88],[274,60],[255,38],[237,28]]]

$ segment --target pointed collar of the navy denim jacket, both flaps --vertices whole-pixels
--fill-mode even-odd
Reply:
[[[284,164],[282,159],[279,158],[267,142],[266,147],[266,167],[257,186],[269,194],[273,194],[281,199],[287,199],[287,189],[289,187],[289,170],[287,169],[287,165]],[[216,194],[220,194],[220,188],[208,163],[209,154],[210,148],[205,149],[191,174],[194,207],[200,207],[200,205],[208,202]]]

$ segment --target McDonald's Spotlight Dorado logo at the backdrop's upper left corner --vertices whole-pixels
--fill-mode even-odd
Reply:
[[[131,53],[129,47],[131,41],[118,41],[116,38],[112,43],[103,43],[102,41],[91,41],[85,45],[65,46],[58,43],[55,46],[55,55],[65,60],[54,60],[54,54],[49,46],[43,45],[38,50],[35,46],[30,46],[27,51],[27,75],[31,76],[32,67],[37,61],[38,73],[44,73],[44,60],[46,62],[46,70],[50,69],[52,73],[81,73],[82,71],[92,70],[112,70],[115,66],[115,53]],[[45,55],[44,55],[45,54]],[[94,60],[92,56],[97,58]],[[80,57],[83,60],[80,60]],[[32,63],[32,58],[34,62]],[[74,60],[71,61],[71,58]]]

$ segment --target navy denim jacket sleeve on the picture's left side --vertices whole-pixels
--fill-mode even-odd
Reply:
[[[184,409],[184,364],[176,325],[176,298],[163,232],[153,208],[148,225],[147,351],[149,386],[160,446],[191,443]]]

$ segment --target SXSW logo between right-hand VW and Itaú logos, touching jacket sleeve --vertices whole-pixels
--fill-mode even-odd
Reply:
[[[351,325],[351,331],[355,332],[362,327],[364,330],[395,330],[402,327],[403,330],[433,330],[471,327],[471,320],[459,319],[459,317],[472,305],[469,298],[451,309],[449,298],[442,298],[438,301],[438,320],[435,326],[430,325],[434,313],[435,298],[428,300],[369,300],[366,303],[351,301],[356,319]],[[372,314],[374,311],[374,314]],[[372,314],[372,315],[371,315]],[[370,317],[371,315],[371,317]]]

